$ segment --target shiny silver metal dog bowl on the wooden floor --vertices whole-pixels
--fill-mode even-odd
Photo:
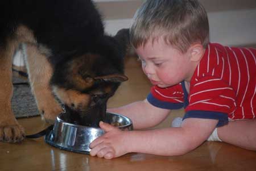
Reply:
[[[48,132],[44,140],[49,145],[67,151],[89,153],[89,145],[105,132],[99,127],[88,127],[67,122],[67,113],[57,116],[53,130]],[[106,112],[103,120],[121,130],[133,130],[133,123],[126,116]]]

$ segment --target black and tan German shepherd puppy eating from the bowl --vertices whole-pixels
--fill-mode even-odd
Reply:
[[[69,110],[82,112],[96,104],[101,105],[94,110],[102,110],[127,80],[123,57],[129,31],[104,34],[92,1],[6,0],[0,2],[0,15],[0,141],[24,139],[10,104],[12,58],[20,45],[26,50],[32,93],[46,120],[62,112],[58,101]]]

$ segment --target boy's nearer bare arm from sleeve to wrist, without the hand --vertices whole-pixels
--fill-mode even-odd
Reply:
[[[149,131],[127,131],[129,152],[161,156],[183,155],[199,147],[210,136],[218,120],[187,118],[181,127]],[[133,143],[131,143],[133,142]]]

